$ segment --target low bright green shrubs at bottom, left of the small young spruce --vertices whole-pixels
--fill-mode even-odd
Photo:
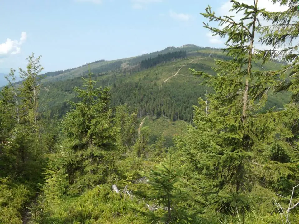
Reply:
[[[145,191],[145,184],[132,184],[129,190],[134,192]],[[123,188],[124,186],[119,186]],[[143,189],[142,189],[143,187]],[[56,201],[57,202],[57,201]],[[49,209],[53,208],[55,209]],[[45,204],[43,215],[37,216],[34,223],[144,223],[143,218],[136,210],[144,210],[145,202],[133,197],[121,198],[112,191],[109,185],[98,185],[78,197],[65,197],[60,203]],[[36,209],[36,212],[40,209]]]

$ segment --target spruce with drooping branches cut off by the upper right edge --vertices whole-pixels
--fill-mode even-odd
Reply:
[[[264,34],[260,41],[263,44],[271,45],[275,50],[260,51],[261,58],[278,58],[286,65],[277,71],[277,78],[280,82],[275,86],[275,92],[290,91],[292,93],[291,104],[299,105],[299,51],[298,51],[298,27],[299,9],[298,1],[273,0],[273,3],[280,3],[281,6],[288,6],[283,12],[271,12],[267,19],[272,22],[270,26],[261,28]],[[286,45],[287,44],[287,45]],[[299,121],[295,120],[292,125],[294,138],[299,137]]]

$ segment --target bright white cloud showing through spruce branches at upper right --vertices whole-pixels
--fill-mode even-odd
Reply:
[[[248,4],[248,5],[253,5],[253,0],[239,0],[240,3],[244,3],[244,4]],[[236,11],[229,11],[231,9],[232,3],[230,2],[230,0],[227,0],[224,4],[221,5],[221,7],[219,7],[218,9],[215,10],[216,12],[216,16],[234,16],[234,20],[236,22],[240,21],[240,19],[244,16],[244,11],[240,11],[239,13],[236,13]],[[263,1],[259,1],[258,2],[258,8],[259,9],[266,9],[267,11],[270,12],[277,12],[277,11],[284,11],[287,10],[288,7],[287,6],[280,6],[278,3],[276,4],[272,4],[271,0],[263,0]],[[212,9],[213,10],[213,9]],[[265,21],[261,16],[258,16],[258,19],[261,23],[262,26],[266,26],[268,24],[270,24],[270,22]],[[223,24],[220,28],[224,28],[225,24]],[[222,43],[225,42],[226,38],[221,40],[219,37],[216,38],[216,36],[212,37],[210,32],[206,34],[206,36],[209,37],[209,42],[213,43],[213,44],[220,44],[220,41]],[[258,40],[258,35],[256,37],[255,40]],[[257,47],[261,47],[260,44],[256,43],[255,44]],[[263,46],[262,48],[264,49],[266,46]],[[268,46],[266,47],[267,49],[271,49],[268,48]],[[259,48],[261,49],[261,48]]]

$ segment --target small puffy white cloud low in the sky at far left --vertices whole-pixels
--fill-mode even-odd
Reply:
[[[21,51],[21,45],[27,39],[27,34],[22,32],[19,40],[6,39],[5,43],[0,44],[0,57],[7,57],[11,54],[18,54]]]

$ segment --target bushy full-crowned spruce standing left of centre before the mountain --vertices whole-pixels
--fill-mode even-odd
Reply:
[[[114,172],[116,130],[112,126],[109,89],[95,88],[84,79],[83,88],[74,88],[80,101],[64,117],[62,128],[67,137],[64,168],[69,175],[70,192],[105,183]]]

